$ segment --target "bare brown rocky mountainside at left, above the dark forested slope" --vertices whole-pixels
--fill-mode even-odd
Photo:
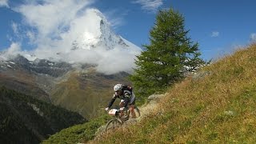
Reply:
[[[0,84],[50,102],[50,90],[55,79],[69,70],[72,67],[65,62],[56,63],[46,59],[31,62],[22,55],[17,55],[8,61],[0,61]]]

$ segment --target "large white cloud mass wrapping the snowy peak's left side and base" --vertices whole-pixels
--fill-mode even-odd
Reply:
[[[22,33],[36,46],[34,50],[26,51],[38,58],[54,59],[70,63],[96,64],[97,70],[105,74],[119,71],[130,71],[134,67],[135,55],[138,50],[126,50],[115,46],[113,50],[106,50],[106,46],[95,49],[71,50],[74,42],[90,42],[97,44],[101,37],[100,17],[105,18],[96,9],[90,8],[90,0],[42,0],[27,1],[14,8],[22,14]],[[110,17],[111,14],[109,14]],[[120,19],[110,22],[117,25]],[[106,25],[110,24],[106,22]],[[21,29],[21,28],[20,28]],[[13,30],[18,30],[13,24]],[[86,42],[84,42],[86,41]],[[18,50],[17,50],[18,51]],[[22,52],[25,54],[25,52]]]

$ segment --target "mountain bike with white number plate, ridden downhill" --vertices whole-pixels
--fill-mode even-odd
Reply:
[[[136,114],[136,118],[141,116],[140,110],[137,106],[135,106],[134,111]],[[114,118],[110,119],[110,121],[106,123],[105,131],[114,130],[130,118],[130,110],[127,107],[125,108],[125,110],[123,110],[123,114],[121,114],[121,111],[118,109],[109,110],[109,114]]]

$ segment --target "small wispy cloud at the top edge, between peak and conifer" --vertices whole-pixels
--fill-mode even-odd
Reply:
[[[159,6],[162,6],[162,0],[135,0],[132,3],[142,5],[142,10],[156,11]]]

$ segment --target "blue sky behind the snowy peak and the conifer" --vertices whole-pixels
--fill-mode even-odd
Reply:
[[[32,8],[31,10],[21,8],[45,2],[70,2],[72,6],[63,11],[67,15],[66,19],[64,14],[63,16],[53,13],[49,15],[48,22],[42,26],[34,23],[35,20],[42,19],[40,15],[30,14],[33,13]],[[68,29],[59,22],[68,22],[69,16],[72,15],[70,13],[78,14],[88,8],[100,10],[111,23],[116,34],[120,34],[137,46],[142,46],[149,44],[149,32],[154,26],[157,11],[171,6],[184,16],[186,30],[190,30],[188,36],[193,42],[198,42],[204,59],[218,58],[223,53],[230,53],[238,46],[246,46],[256,40],[256,1],[254,0],[76,0],[75,2],[79,5],[69,0],[0,0],[0,50],[10,48],[13,43],[18,43],[22,50],[35,49],[38,43],[34,42],[34,33],[44,34],[44,31],[54,29],[54,22],[58,23],[58,26],[64,26],[62,29]],[[40,14],[45,12],[42,11]],[[30,18],[26,18],[28,15]],[[58,21],[59,18],[62,21]],[[42,37],[37,35],[36,38]]]

